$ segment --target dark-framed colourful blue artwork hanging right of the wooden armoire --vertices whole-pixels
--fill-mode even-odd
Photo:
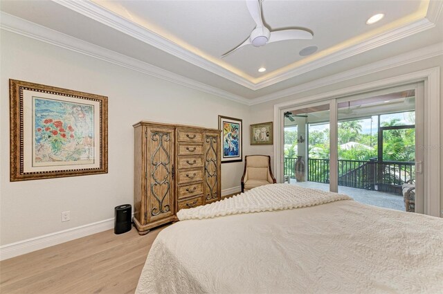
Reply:
[[[221,132],[221,163],[242,161],[242,120],[219,116]]]

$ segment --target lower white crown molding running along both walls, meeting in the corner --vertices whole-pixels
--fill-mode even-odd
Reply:
[[[441,6],[439,8],[441,10]],[[61,48],[72,50],[83,55],[94,57],[105,62],[110,62],[118,66],[123,66],[125,68],[138,71],[153,77],[158,77],[162,80],[167,80],[169,82],[174,82],[175,84],[180,84],[191,89],[198,91],[203,91],[205,93],[210,93],[212,95],[217,95],[218,97],[252,106],[255,104],[260,104],[264,102],[269,102],[272,100],[277,100],[280,98],[287,97],[289,95],[294,95],[297,93],[302,93],[312,89],[320,88],[322,86],[327,86],[329,84],[334,84],[337,82],[343,82],[345,80],[350,80],[354,77],[360,77],[363,75],[368,75],[371,73],[377,73],[379,71],[384,71],[388,68],[393,68],[396,66],[401,66],[404,64],[409,64],[412,62],[418,62],[427,58],[435,57],[437,55],[443,54],[443,43],[435,44],[432,46],[420,48],[418,50],[411,51],[409,53],[404,53],[397,55],[395,57],[390,57],[387,59],[380,60],[379,62],[373,62],[371,64],[366,64],[358,68],[352,68],[349,71],[343,71],[334,75],[329,75],[327,77],[314,80],[312,82],[307,82],[304,84],[299,84],[293,86],[289,89],[284,89],[269,95],[263,95],[254,99],[246,99],[240,95],[235,95],[217,89],[213,86],[208,86],[207,84],[197,82],[188,77],[183,77],[177,75],[176,73],[171,73],[170,71],[165,71],[163,68],[153,66],[152,64],[147,64],[146,62],[141,62],[138,59],[132,57],[127,57],[120,53],[84,42],[75,37],[65,35],[63,33],[51,30],[44,26],[39,26],[33,22],[20,19],[12,15],[8,15],[5,12],[0,12],[1,24],[0,28],[2,30],[8,30],[12,33],[17,33],[19,35],[24,35],[32,39],[37,39],[41,42],[46,42],[48,44],[53,44]]]

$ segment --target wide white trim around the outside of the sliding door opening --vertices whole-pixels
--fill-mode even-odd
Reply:
[[[285,109],[309,102],[330,100],[344,95],[375,91],[413,82],[424,82],[424,129],[426,130],[424,140],[426,161],[426,166],[424,166],[424,170],[426,170],[426,178],[424,179],[426,183],[424,194],[425,213],[433,217],[440,217],[440,66],[275,104],[274,135],[277,138],[274,140],[274,171],[278,183],[282,183],[283,179],[281,167],[284,154],[282,154],[281,147],[283,140],[282,116]]]

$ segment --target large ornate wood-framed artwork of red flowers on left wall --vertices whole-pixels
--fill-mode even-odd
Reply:
[[[10,181],[105,174],[107,97],[9,80]]]

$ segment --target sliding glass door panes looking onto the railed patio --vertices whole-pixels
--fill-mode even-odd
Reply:
[[[285,181],[423,213],[423,84],[284,111]]]

